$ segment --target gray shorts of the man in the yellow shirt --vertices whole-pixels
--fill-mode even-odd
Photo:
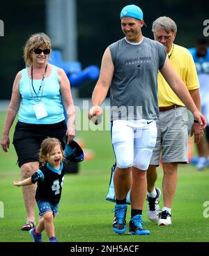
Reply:
[[[188,114],[186,107],[160,112],[157,125],[157,141],[150,165],[162,163],[188,163]]]

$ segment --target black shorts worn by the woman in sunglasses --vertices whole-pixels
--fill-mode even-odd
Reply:
[[[63,149],[67,126],[65,121],[54,124],[29,124],[17,122],[13,137],[13,144],[17,153],[19,167],[24,163],[38,161],[40,144],[46,137],[56,137],[60,140]]]

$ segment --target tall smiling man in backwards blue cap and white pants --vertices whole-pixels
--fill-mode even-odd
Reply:
[[[100,77],[88,113],[88,118],[95,122],[95,116],[102,114],[100,105],[111,86],[111,138],[116,156],[113,230],[118,234],[123,234],[126,229],[126,196],[130,189],[129,234],[150,234],[142,225],[142,210],[146,198],[146,170],[157,137],[158,70],[193,113],[200,129],[206,127],[205,117],[197,110],[187,87],[171,67],[164,47],[145,38],[141,33],[143,26],[141,8],[125,6],[121,11],[121,28],[125,38],[113,43],[104,52]]]

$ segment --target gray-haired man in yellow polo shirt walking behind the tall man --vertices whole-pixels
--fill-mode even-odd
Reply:
[[[153,35],[155,40],[162,43],[167,50],[171,66],[178,76],[185,82],[189,93],[201,110],[199,96],[199,81],[192,54],[185,47],[173,43],[176,38],[176,23],[169,17],[159,17],[153,22]],[[157,120],[157,142],[153,149],[153,156],[147,171],[148,183],[148,218],[158,221],[158,225],[171,225],[171,205],[176,191],[178,163],[188,163],[187,153],[187,108],[167,84],[161,73],[157,77],[159,93],[160,117]],[[202,132],[199,123],[194,121],[191,135],[194,142],[199,143]],[[160,188],[155,188],[157,180],[156,167],[160,164],[162,152],[163,180],[162,191],[164,205],[160,211]]]

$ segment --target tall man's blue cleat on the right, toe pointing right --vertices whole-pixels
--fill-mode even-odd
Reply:
[[[144,229],[143,224],[144,223],[142,221],[141,215],[135,215],[133,218],[130,219],[128,234],[150,234],[149,230]]]

